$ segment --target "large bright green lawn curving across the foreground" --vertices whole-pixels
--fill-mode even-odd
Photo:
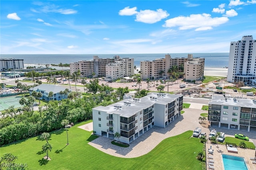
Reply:
[[[42,159],[46,155],[42,153],[42,145],[46,141],[40,141],[38,137],[1,147],[0,156],[11,152],[18,156],[15,163],[27,163],[27,169],[30,170],[155,170],[168,167],[172,170],[200,170],[204,166],[204,162],[196,159],[197,153],[202,151],[203,144],[198,138],[190,138],[192,131],[165,139],[151,152],[138,158],[119,158],[88,145],[88,142],[96,136],[90,135],[92,132],[77,128],[83,124],[85,122],[68,129],[70,143],[68,146],[66,146],[64,129],[51,133],[49,143],[52,144],[52,151],[49,152],[49,156],[52,160],[50,161]]]

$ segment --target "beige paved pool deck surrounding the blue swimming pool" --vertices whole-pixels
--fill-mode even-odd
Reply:
[[[207,150],[211,146],[212,146],[212,149],[214,149],[214,153],[213,154],[208,154]],[[253,164],[252,160],[250,160],[250,157],[255,156],[255,150],[253,150],[253,149],[243,149],[243,148],[239,148],[239,147],[237,148],[237,150],[238,150],[238,153],[228,152],[225,145],[218,145],[218,148],[217,148],[217,144],[211,144],[208,141],[208,143],[206,143],[206,165],[207,165],[207,169],[209,169],[208,161],[209,160],[214,160],[214,169],[215,170],[224,170],[221,154],[228,154],[228,155],[232,155],[232,156],[244,157],[249,170],[256,170],[256,164]],[[213,159],[209,159],[208,155],[212,156]]]

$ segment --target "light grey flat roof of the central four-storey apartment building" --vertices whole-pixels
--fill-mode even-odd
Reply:
[[[139,99],[129,98],[108,106],[94,107],[93,109],[98,111],[106,111],[108,114],[113,114],[113,113],[119,114],[122,117],[131,117],[138,111],[141,111],[142,109],[146,109],[154,104],[166,105],[182,96],[183,95],[181,94],[150,93],[147,96],[144,96]],[[118,106],[118,107],[114,107],[114,106]]]

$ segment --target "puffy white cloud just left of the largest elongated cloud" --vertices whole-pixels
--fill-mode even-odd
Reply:
[[[144,22],[144,23],[156,23],[168,17],[169,15],[170,14],[168,14],[167,11],[164,11],[162,9],[158,9],[156,11],[140,10],[140,12],[136,14],[135,21]]]

